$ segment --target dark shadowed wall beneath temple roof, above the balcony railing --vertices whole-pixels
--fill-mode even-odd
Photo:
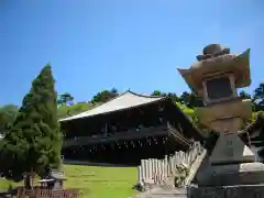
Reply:
[[[131,110],[62,122],[61,127],[66,139],[102,134],[106,123],[108,123],[109,133],[112,132],[112,125],[118,131],[135,129],[141,124],[144,127],[155,127],[161,124],[160,118],[163,118],[163,122],[166,122],[165,113],[160,111],[160,107],[163,105],[163,102],[153,103]]]

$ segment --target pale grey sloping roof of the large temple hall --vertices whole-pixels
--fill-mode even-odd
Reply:
[[[125,110],[161,101],[164,100],[165,98],[166,97],[139,95],[128,90],[119,95],[118,97],[107,101],[106,103],[102,103],[101,106],[98,106],[91,110],[81,112],[69,118],[61,119],[59,122]]]

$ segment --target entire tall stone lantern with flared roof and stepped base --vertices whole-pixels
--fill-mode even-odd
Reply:
[[[219,186],[243,188],[264,182],[264,165],[255,162],[254,153],[238,136],[242,123],[252,116],[251,101],[238,96],[238,88],[251,84],[249,61],[250,50],[233,54],[210,44],[189,69],[178,69],[191,91],[202,98],[204,107],[196,111],[200,122],[220,134],[196,174],[199,188],[193,195],[205,188],[218,195]]]

